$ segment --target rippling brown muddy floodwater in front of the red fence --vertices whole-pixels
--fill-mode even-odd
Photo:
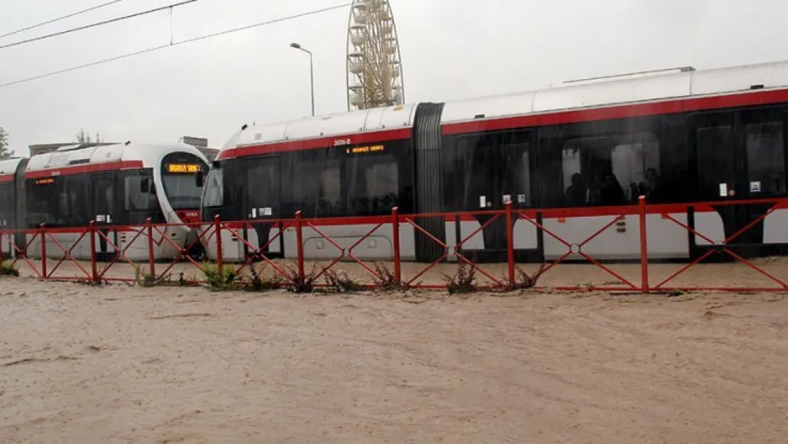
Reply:
[[[296,296],[2,278],[0,321],[0,442],[788,435],[788,301],[770,293]]]

